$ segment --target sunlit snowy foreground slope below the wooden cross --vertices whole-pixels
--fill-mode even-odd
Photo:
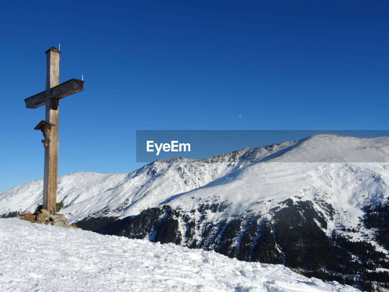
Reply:
[[[358,291],[282,265],[173,244],[0,219],[2,292]]]

